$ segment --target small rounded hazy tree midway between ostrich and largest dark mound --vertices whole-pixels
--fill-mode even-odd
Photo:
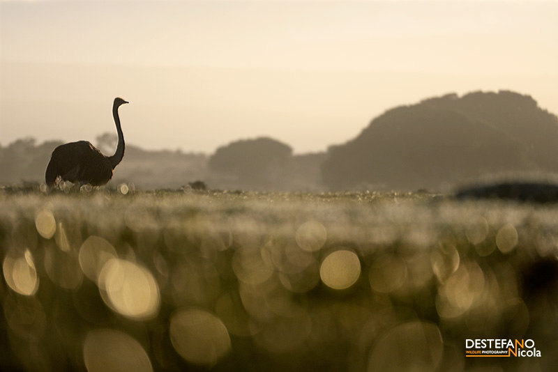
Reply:
[[[234,176],[236,185],[276,189],[285,166],[292,162],[292,148],[275,139],[260,137],[222,146],[209,158],[212,171]]]

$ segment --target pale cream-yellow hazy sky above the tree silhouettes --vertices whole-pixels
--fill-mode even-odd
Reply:
[[[509,89],[558,114],[557,1],[0,1],[0,144],[114,132],[296,153],[445,93]]]

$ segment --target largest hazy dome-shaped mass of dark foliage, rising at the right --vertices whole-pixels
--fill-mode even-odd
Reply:
[[[528,95],[474,92],[397,107],[322,164],[330,189],[443,189],[495,173],[556,173],[558,119]]]

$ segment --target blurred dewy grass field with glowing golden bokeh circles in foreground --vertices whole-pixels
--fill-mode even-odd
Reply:
[[[554,371],[557,242],[553,205],[5,188],[0,369]]]

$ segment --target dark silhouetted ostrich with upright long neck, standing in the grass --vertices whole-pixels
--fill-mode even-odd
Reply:
[[[121,104],[128,103],[122,98],[114,98],[112,116],[118,132],[118,146],[112,156],[105,156],[89,141],[70,142],[58,146],[52,151],[50,162],[45,172],[45,181],[48,187],[57,184],[56,179],[71,183],[101,186],[112,178],[112,171],[124,157],[124,136],[120,127],[118,108]]]

